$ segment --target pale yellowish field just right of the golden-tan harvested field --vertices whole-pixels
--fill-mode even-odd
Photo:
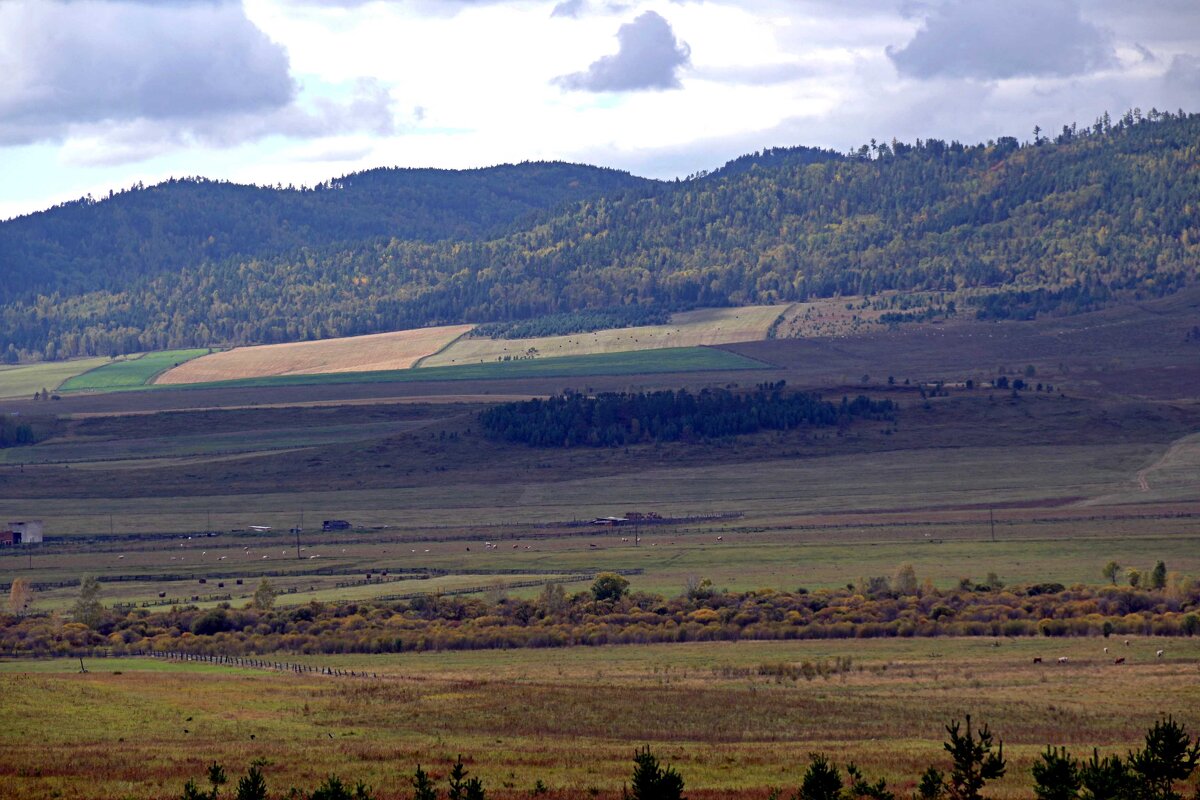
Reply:
[[[496,361],[504,356],[533,355],[545,359],[559,355],[590,355],[594,353],[757,342],[767,338],[767,331],[772,323],[787,308],[787,306],[702,308],[673,314],[667,325],[641,325],[590,333],[540,336],[530,339],[463,337],[442,353],[424,359],[420,366],[448,367]]]

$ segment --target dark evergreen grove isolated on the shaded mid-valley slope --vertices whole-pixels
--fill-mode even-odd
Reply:
[[[503,403],[480,413],[486,435],[538,447],[614,447],[643,441],[719,439],[802,426],[893,420],[896,405],[863,395],[840,403],[812,392],[787,392],[784,383],[754,391],[706,389],[655,392],[564,392],[547,399]]]

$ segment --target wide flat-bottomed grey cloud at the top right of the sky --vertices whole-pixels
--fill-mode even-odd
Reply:
[[[984,80],[1076,76],[1115,62],[1109,32],[1085,20],[1076,0],[947,0],[888,58],[914,78]]]

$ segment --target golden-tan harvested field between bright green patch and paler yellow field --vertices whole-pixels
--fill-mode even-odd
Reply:
[[[446,325],[317,342],[236,348],[182,363],[160,375],[155,383],[178,385],[269,375],[408,369],[470,329],[472,325]]]

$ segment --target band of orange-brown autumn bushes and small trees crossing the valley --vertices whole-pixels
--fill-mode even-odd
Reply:
[[[1165,567],[1164,567],[1165,570]],[[1157,569],[1156,569],[1157,572]],[[16,587],[16,584],[14,584]],[[25,587],[28,589],[28,587]],[[1162,585],[1007,587],[995,575],[952,589],[919,582],[911,565],[895,576],[841,589],[722,591],[689,582],[676,597],[631,591],[604,573],[586,591],[547,584],[536,597],[422,595],[396,602],[277,608],[269,584],[244,608],[106,608],[102,584],[84,579],[67,616],[36,613],[36,595],[0,615],[0,652],[115,654],[401,652],[557,648],[671,642],[877,637],[1195,636],[1200,582],[1168,572]],[[798,674],[796,679],[815,678]]]

